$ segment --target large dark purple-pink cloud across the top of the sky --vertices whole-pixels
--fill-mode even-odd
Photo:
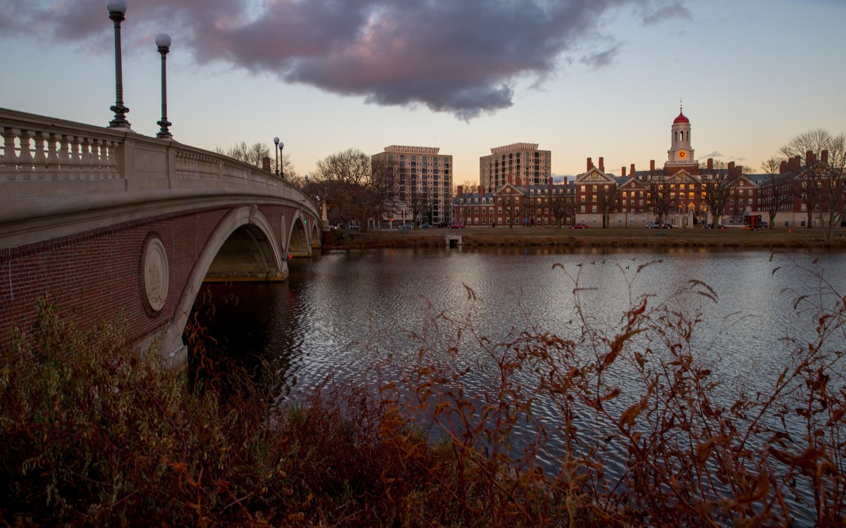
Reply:
[[[7,0],[56,41],[102,38],[103,2]],[[591,39],[607,15],[634,8],[645,24],[689,18],[665,0],[128,0],[125,31],[166,31],[199,63],[227,63],[286,82],[359,95],[378,105],[426,106],[470,120],[514,104],[514,85],[540,83],[579,50],[594,67],[621,45]],[[128,39],[128,45],[133,41]],[[586,52],[585,52],[586,50]]]

